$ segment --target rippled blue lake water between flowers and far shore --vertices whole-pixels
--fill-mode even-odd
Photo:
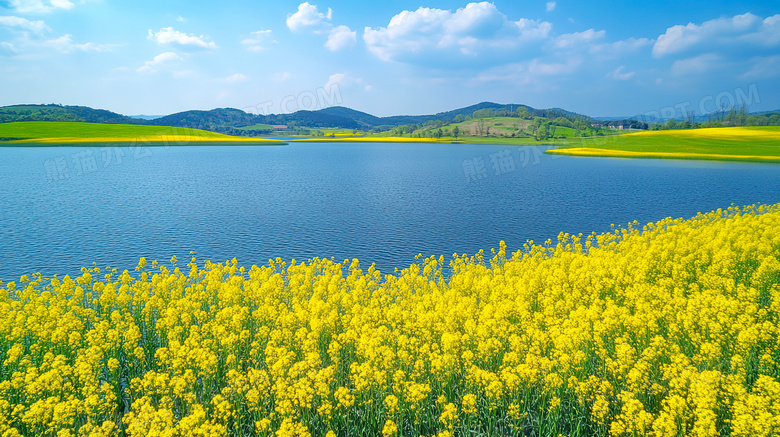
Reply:
[[[138,258],[336,261],[510,251],[559,232],[780,202],[780,166],[573,158],[523,146],[0,148],[0,279]]]

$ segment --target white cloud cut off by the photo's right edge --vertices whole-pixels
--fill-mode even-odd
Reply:
[[[731,18],[717,18],[701,25],[688,23],[666,29],[653,46],[653,56],[692,51],[715,51],[726,47],[765,47],[780,45],[780,14],[762,19],[746,13]]]

